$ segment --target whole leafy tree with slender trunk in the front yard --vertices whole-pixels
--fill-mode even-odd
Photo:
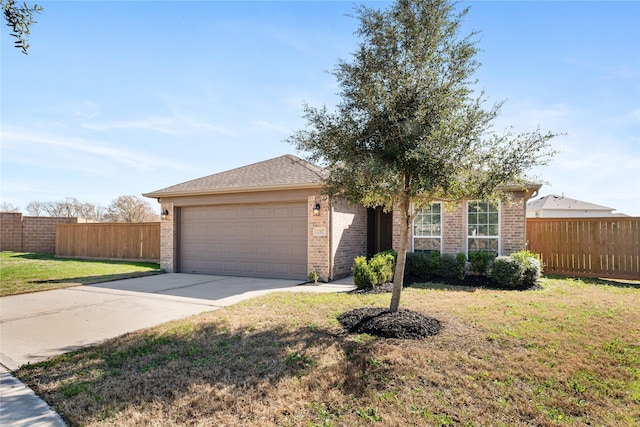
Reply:
[[[498,133],[501,103],[486,106],[474,73],[476,32],[460,36],[469,8],[446,0],[398,0],[387,10],[356,9],[361,38],[333,75],[335,112],[304,107],[305,129],[289,142],[330,170],[325,191],[365,206],[398,210],[391,311],[397,311],[414,216],[435,200],[504,197],[544,164],[555,135]]]

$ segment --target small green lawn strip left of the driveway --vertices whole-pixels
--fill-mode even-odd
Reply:
[[[160,266],[150,262],[65,259],[52,254],[0,252],[0,296],[160,272]]]

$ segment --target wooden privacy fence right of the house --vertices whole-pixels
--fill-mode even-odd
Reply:
[[[640,280],[640,217],[527,218],[544,272]]]

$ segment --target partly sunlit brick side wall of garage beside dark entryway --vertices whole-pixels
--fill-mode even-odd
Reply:
[[[367,254],[367,209],[345,201],[332,203],[332,279],[349,276],[355,257]]]

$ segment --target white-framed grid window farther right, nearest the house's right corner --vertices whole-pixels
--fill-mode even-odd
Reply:
[[[467,250],[468,252],[499,252],[499,205],[487,201],[468,203]]]

